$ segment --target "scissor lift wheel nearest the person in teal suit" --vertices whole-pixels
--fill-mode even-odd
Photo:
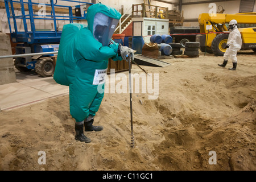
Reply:
[[[51,58],[39,59],[35,64],[35,71],[42,77],[52,76],[54,73],[54,64]]]

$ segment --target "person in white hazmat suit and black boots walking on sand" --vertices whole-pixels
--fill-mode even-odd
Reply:
[[[242,38],[240,31],[237,27],[237,20],[233,19],[229,22],[230,31],[228,42],[226,43],[226,52],[224,53],[224,61],[222,64],[218,64],[220,67],[226,67],[228,63],[228,59],[232,60],[233,68],[229,68],[229,70],[236,70],[237,68],[237,51],[241,49],[242,46]]]

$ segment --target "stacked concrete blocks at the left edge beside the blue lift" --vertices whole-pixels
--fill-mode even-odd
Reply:
[[[9,35],[0,32],[0,56],[12,55]],[[16,82],[13,58],[0,59],[0,85]]]

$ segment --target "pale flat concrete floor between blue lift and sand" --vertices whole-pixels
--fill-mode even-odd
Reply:
[[[16,82],[0,85],[0,108],[10,110],[47,98],[69,93],[69,87],[59,85],[51,77],[40,77],[34,71],[15,71]]]

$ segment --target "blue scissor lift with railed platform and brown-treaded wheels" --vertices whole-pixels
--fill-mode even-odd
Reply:
[[[6,14],[8,18],[9,28],[11,39],[14,43],[18,43],[15,47],[16,54],[24,54],[24,53],[38,53],[38,52],[52,52],[58,51],[61,31],[59,27],[57,27],[57,20],[69,20],[69,23],[73,23],[74,20],[82,20],[85,19],[86,16],[86,9],[88,6],[92,5],[93,3],[88,2],[80,2],[80,1],[71,1],[71,0],[59,0],[59,1],[69,1],[80,3],[81,5],[77,5],[76,11],[79,9],[80,6],[82,11],[80,14],[74,16],[72,6],[64,6],[64,5],[57,5],[57,0],[53,2],[50,0],[50,4],[44,3],[36,3],[32,2],[31,0],[5,0],[5,7],[6,7]],[[15,5],[20,5],[20,11],[22,15],[15,15]],[[46,7],[51,10],[51,15],[41,15],[39,13],[34,12],[34,7]],[[56,9],[64,9],[67,11],[68,15],[63,14],[56,15]],[[26,14],[26,12],[28,14]],[[83,13],[81,13],[83,12]],[[23,30],[18,30],[17,27],[17,19],[22,19],[23,22]],[[36,28],[35,22],[36,20],[52,20],[54,24],[54,28],[48,31],[42,31]],[[28,23],[30,22],[30,24]],[[20,26],[19,26],[20,27]],[[14,31],[12,31],[14,28]],[[35,69],[38,75],[43,77],[52,76],[55,69],[55,61],[56,55],[49,54],[43,56],[30,56],[30,57],[17,57],[14,61],[15,68],[19,71],[30,71]]]

